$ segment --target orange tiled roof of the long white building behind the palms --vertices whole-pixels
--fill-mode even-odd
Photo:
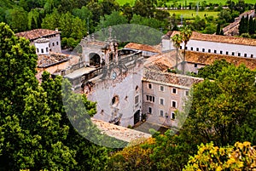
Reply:
[[[172,36],[179,34],[179,31],[172,31]],[[244,37],[230,37],[230,36],[220,36],[212,34],[202,34],[199,32],[193,31],[191,40],[200,40],[208,42],[217,42],[217,43],[232,43],[232,44],[242,44],[249,46],[256,46],[256,39],[244,38]]]

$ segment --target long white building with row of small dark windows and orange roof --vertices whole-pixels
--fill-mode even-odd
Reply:
[[[172,31],[170,38],[179,33],[179,31]],[[163,41],[170,41],[172,44],[171,49],[175,49],[170,39],[164,39]],[[162,44],[162,48],[168,48],[165,46],[166,43]],[[181,44],[180,49],[183,49],[183,43]],[[243,37],[209,35],[193,31],[186,49],[203,53],[227,54],[247,58],[256,58],[256,40]]]

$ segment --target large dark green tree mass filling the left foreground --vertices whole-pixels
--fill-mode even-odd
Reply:
[[[0,24],[0,42],[1,170],[103,169],[109,149],[81,136],[89,134],[94,140],[117,142],[100,134],[90,122],[90,117],[96,113],[96,103],[74,94],[71,84],[62,77],[53,79],[44,72],[42,83],[38,84],[35,48],[25,38],[15,37],[3,23]],[[65,100],[76,107],[65,108]],[[84,106],[88,115],[84,115]],[[67,111],[75,116],[67,116]],[[84,132],[79,133],[71,122],[78,123]]]

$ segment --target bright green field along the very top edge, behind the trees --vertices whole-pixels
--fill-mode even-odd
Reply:
[[[133,5],[133,3],[136,0],[116,0],[120,5],[124,5],[125,3],[130,3]],[[189,3],[197,3],[197,2],[203,2],[204,0],[187,0],[187,4]],[[207,3],[222,3],[223,5],[227,2],[226,0],[206,0]],[[238,0],[233,0],[234,2],[238,2]],[[177,3],[182,3],[183,5],[185,4],[185,0],[177,0]],[[256,3],[255,0],[245,0],[245,3]],[[172,4],[172,1],[169,1],[167,4]]]

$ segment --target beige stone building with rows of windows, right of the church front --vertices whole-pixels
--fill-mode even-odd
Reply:
[[[143,113],[148,121],[178,127],[176,111],[183,111],[184,100],[192,84],[203,79],[162,71],[145,70],[143,78]]]

